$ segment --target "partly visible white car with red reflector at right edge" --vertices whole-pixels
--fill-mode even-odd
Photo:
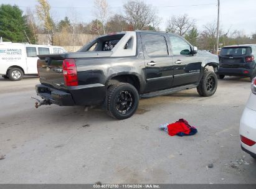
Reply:
[[[252,93],[240,120],[242,150],[256,159],[256,78],[252,80]]]

